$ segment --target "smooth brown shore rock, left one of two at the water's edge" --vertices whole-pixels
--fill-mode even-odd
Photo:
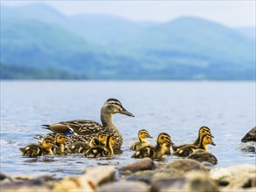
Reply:
[[[119,172],[120,174],[124,172],[134,173],[136,171],[142,171],[142,170],[154,170],[155,168],[156,167],[155,167],[154,161],[149,157],[147,157],[119,168]]]

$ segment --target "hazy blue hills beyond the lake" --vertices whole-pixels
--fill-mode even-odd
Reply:
[[[255,38],[202,18],[66,17],[44,4],[1,6],[1,18],[0,61],[9,74],[23,66],[35,79],[43,71],[74,79],[255,79]]]

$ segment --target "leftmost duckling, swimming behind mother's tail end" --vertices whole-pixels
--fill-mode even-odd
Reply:
[[[45,137],[41,145],[30,144],[26,147],[20,147],[20,151],[23,155],[29,157],[37,157],[45,154],[53,154],[52,147],[54,145],[54,140],[51,137]]]

